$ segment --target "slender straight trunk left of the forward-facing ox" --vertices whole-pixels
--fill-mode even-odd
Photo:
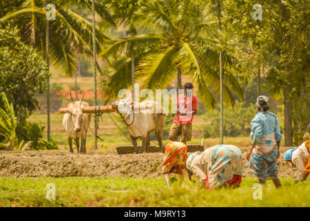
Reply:
[[[48,1],[46,1],[48,4]],[[46,37],[46,64],[48,65],[48,79],[47,79],[47,108],[48,108],[48,142],[50,142],[50,22],[46,20],[46,28],[45,28],[45,37]]]

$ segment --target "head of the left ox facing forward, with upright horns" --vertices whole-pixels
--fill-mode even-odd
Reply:
[[[79,102],[74,101],[71,95],[71,91],[70,91],[70,97],[72,100],[72,106],[70,107],[70,109],[67,110],[67,113],[70,113],[70,117],[72,117],[74,131],[79,132],[81,131],[82,118],[83,118],[82,100],[84,97],[84,93]]]

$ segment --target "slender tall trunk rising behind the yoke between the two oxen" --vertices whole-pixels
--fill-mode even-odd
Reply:
[[[94,106],[97,106],[97,74],[96,74],[96,26],[94,0],[92,0],[92,58],[94,63]],[[97,119],[94,119],[95,141],[94,148],[97,148]]]

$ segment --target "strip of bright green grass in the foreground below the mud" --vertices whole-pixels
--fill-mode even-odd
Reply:
[[[168,189],[163,177],[0,178],[0,206],[310,206],[310,183],[293,184],[291,177],[281,179],[280,189],[267,182],[262,200],[253,199],[257,180],[249,177],[238,189],[215,191],[171,180]],[[45,198],[48,183],[56,186],[56,200]]]

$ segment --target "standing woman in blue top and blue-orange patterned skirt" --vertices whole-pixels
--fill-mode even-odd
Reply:
[[[260,184],[272,180],[276,188],[281,186],[277,174],[282,135],[278,117],[268,111],[269,99],[259,96],[256,101],[258,113],[251,121],[251,149],[247,153],[249,171],[258,177]]]

